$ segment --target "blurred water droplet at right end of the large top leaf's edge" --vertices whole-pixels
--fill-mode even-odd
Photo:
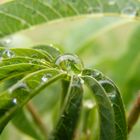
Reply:
[[[122,10],[122,15],[127,15],[129,17],[135,17],[137,15],[137,9],[134,6],[127,6]]]

